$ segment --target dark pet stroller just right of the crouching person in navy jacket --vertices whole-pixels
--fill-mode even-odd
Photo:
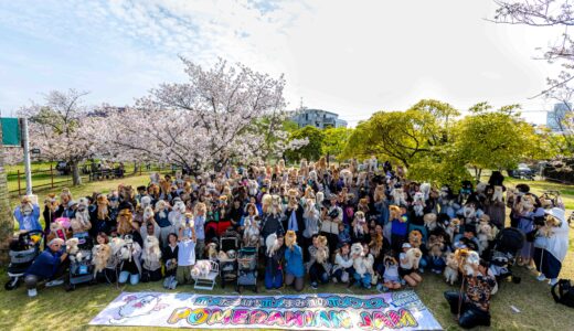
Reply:
[[[94,242],[86,233],[74,235],[78,238],[79,248],[75,257],[70,257],[70,289],[75,289],[76,285],[89,282],[94,279],[94,265],[92,264],[92,248]]]

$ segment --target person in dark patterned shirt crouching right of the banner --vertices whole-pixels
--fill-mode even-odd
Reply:
[[[464,275],[466,291],[446,291],[445,298],[450,312],[457,314],[458,324],[465,329],[478,325],[490,327],[490,296],[496,279],[488,275],[488,266],[483,260],[472,266],[472,275]],[[464,269],[463,269],[464,270]]]

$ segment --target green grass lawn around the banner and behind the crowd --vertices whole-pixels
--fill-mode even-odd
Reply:
[[[73,188],[75,197],[92,194],[94,191],[107,192],[117,186],[118,183],[131,185],[145,184],[148,177],[132,177],[106,182],[88,183],[81,188]],[[518,181],[509,180],[507,185],[514,185]],[[564,186],[549,182],[528,182],[534,193],[543,190],[559,189],[563,193],[564,202],[572,210],[574,203],[574,188]],[[43,195],[40,195],[43,199]],[[18,202],[12,200],[12,204]],[[561,278],[574,279],[574,231],[570,234],[570,253],[566,256]],[[550,295],[550,286],[535,280],[535,274],[525,268],[514,269],[515,275],[522,277],[519,285],[512,282],[500,284],[499,292],[492,299],[491,314],[492,327],[479,328],[477,330],[574,330],[574,309],[554,303]],[[0,281],[7,280],[4,270],[0,270]],[[261,292],[265,293],[263,286]],[[443,298],[443,291],[454,289],[436,275],[424,275],[423,284],[415,289],[423,302],[433,312],[445,330],[458,330],[457,323],[449,312],[448,306]],[[96,285],[79,286],[74,292],[65,292],[62,287],[47,288],[39,291],[36,298],[28,298],[25,290],[19,288],[13,291],[4,291],[0,296],[0,329],[1,330],[119,330],[118,328],[87,327],[87,323],[102,311],[121,290],[126,291],[164,291],[160,282],[140,284],[116,289],[115,286]],[[347,290],[341,285],[329,285],[320,287],[321,292],[349,291],[357,295],[373,293],[360,289]],[[192,292],[191,286],[178,287],[178,291]],[[304,290],[307,293],[318,292],[309,287]],[[232,288],[221,287],[210,292],[213,295],[232,295]],[[249,292],[247,291],[246,295]],[[272,291],[269,295],[277,295]],[[281,293],[295,293],[283,290]],[[515,313],[510,308],[517,307],[521,312]],[[121,328],[121,330],[139,330],[141,328]]]

